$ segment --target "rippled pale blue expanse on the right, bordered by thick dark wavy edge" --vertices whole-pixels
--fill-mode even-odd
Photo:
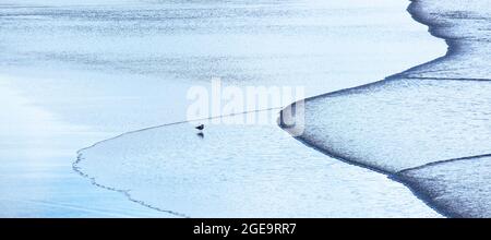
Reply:
[[[491,1],[421,0],[409,11],[447,55],[308,99],[301,139],[400,179],[447,216],[489,217]]]

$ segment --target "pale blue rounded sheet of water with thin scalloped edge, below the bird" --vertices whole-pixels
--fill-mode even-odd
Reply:
[[[82,151],[75,166],[132,200],[191,217],[439,216],[404,185],[326,157],[276,125],[128,133]]]

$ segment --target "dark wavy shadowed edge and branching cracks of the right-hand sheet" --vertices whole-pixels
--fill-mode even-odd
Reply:
[[[303,99],[306,105],[309,101],[315,100],[315,99],[324,99],[324,98],[331,98],[331,97],[336,97],[336,96],[346,96],[346,95],[350,95],[350,94],[356,94],[359,91],[367,91],[370,87],[379,87],[382,86],[386,83],[390,83],[392,81],[398,81],[402,79],[419,79],[419,80],[441,80],[441,81],[476,81],[476,82],[488,82],[491,81],[490,79],[487,77],[432,77],[432,76],[428,76],[428,77],[418,77],[418,76],[411,76],[411,73],[415,73],[415,71],[422,69],[424,67],[431,67],[432,64],[438,64],[438,63],[442,63],[453,57],[457,57],[459,56],[464,49],[463,47],[463,43],[459,43],[459,40],[462,39],[456,39],[456,38],[451,38],[451,37],[445,37],[439,34],[435,34],[434,31],[435,28],[438,28],[438,23],[436,22],[429,22],[426,17],[424,17],[424,13],[422,12],[421,9],[418,9],[416,7],[416,4],[418,3],[418,0],[412,0],[411,3],[408,7],[408,12],[411,13],[411,16],[415,21],[422,23],[424,25],[429,26],[429,33],[438,38],[442,38],[445,39],[446,45],[448,46],[447,48],[447,52],[445,53],[445,56],[442,56],[440,58],[436,58],[434,60],[431,60],[429,62],[412,67],[406,71],[403,71],[400,73],[396,73],[393,75],[390,75],[387,77],[385,77],[384,80],[378,81],[378,82],[373,82],[373,83],[369,83],[369,84],[364,84],[364,85],[360,85],[360,86],[356,86],[356,87],[351,87],[351,88],[346,88],[346,89],[340,89],[340,91],[336,91],[336,92],[332,92],[332,93],[326,93],[326,94],[322,94],[322,95],[318,95],[318,96],[313,96],[313,97],[309,97]],[[464,40],[463,40],[464,41]],[[297,103],[294,103],[291,105],[295,105]],[[290,105],[290,106],[291,106]],[[282,110],[282,113],[286,113],[286,116],[294,116],[295,118],[295,113],[289,112],[289,106],[286,107],[285,109]],[[286,130],[287,132],[287,125],[284,125],[283,123],[279,123],[279,127],[283,128],[284,130]],[[307,125],[306,125],[307,127]],[[306,128],[303,127],[303,128]],[[327,156],[331,156],[333,158],[336,158],[340,161],[350,164],[350,165],[355,165],[358,167],[362,167],[362,168],[367,168],[383,175],[386,175],[390,179],[399,182],[404,185],[406,185],[418,199],[420,199],[421,201],[423,201],[428,206],[430,206],[431,208],[435,209],[438,213],[447,216],[447,217],[463,217],[462,214],[459,214],[458,212],[456,212],[455,209],[451,209],[447,208],[444,204],[439,203],[438,201],[435,201],[434,199],[431,197],[431,194],[428,192],[427,189],[424,189],[423,187],[419,185],[418,183],[414,182],[414,181],[409,181],[408,179],[406,179],[402,173],[408,170],[412,170],[412,169],[418,169],[418,168],[423,168],[426,166],[433,166],[433,165],[439,165],[441,163],[446,163],[446,161],[453,161],[453,160],[459,160],[459,159],[471,159],[475,157],[482,157],[482,156],[489,156],[489,152],[488,153],[482,153],[481,155],[477,155],[477,156],[460,156],[458,158],[453,158],[453,159],[443,159],[443,160],[439,160],[439,161],[433,161],[430,164],[426,164],[426,165],[420,165],[418,167],[411,167],[411,168],[406,168],[406,169],[402,169],[402,170],[388,170],[388,169],[384,169],[383,167],[376,166],[376,165],[371,165],[368,163],[362,163],[359,160],[356,160],[351,157],[349,157],[348,155],[343,155],[337,153],[336,151],[334,151],[333,148],[330,148],[328,146],[322,146],[322,144],[318,144],[314,141],[310,140],[309,137],[304,137],[302,135],[300,136],[295,136],[295,139],[297,139],[299,142],[303,143],[306,146],[312,147],[321,153],[324,153]]]

